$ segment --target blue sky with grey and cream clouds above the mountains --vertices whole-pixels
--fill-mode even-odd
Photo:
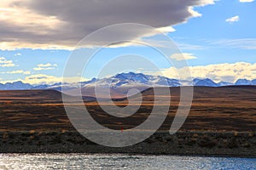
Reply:
[[[120,28],[87,42],[85,49],[102,47],[109,37],[148,40],[155,48],[170,44],[159,31],[172,39],[179,54],[168,56],[185,60],[192,77],[211,78],[215,82],[256,79],[256,2],[253,0],[0,0],[0,82],[22,81],[31,84],[61,82],[67,61],[78,43],[104,26],[138,23],[154,27]],[[159,70],[143,65],[144,56]],[[83,55],[81,55],[83,57]],[[117,65],[102,67],[123,56]],[[129,60],[130,59],[130,60]],[[131,62],[129,62],[131,61]],[[77,61],[79,62],[79,61]],[[126,65],[126,67],[125,67]],[[136,65],[136,66],[135,66]],[[99,51],[82,74],[70,82],[92,77],[108,77],[129,67],[131,71],[175,77],[185,71],[170,65],[157,50],[142,44],[117,43]],[[75,68],[76,65],[73,65]],[[116,67],[116,68],[115,68]],[[179,78],[186,79],[186,75]]]

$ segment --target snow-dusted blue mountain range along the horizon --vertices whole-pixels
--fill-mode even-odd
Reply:
[[[79,84],[81,83],[81,84]],[[232,82],[213,82],[211,79],[199,79],[195,78],[192,84],[188,81],[179,81],[177,79],[170,79],[167,77],[151,76],[145,75],[143,73],[119,73],[113,77],[106,77],[102,79],[92,78],[87,82],[77,82],[77,83],[55,83],[55,84],[42,84],[42,85],[32,85],[29,83],[18,82],[7,82],[5,84],[0,83],[0,90],[26,90],[26,89],[55,89],[61,91],[61,88],[65,90],[71,90],[73,88],[81,88],[86,91],[86,89],[94,88],[95,86],[101,88],[111,88],[118,90],[121,88],[131,88],[137,87],[138,89],[144,89],[152,86],[168,86],[168,87],[178,87],[178,86],[205,86],[205,87],[221,87],[221,86],[232,86],[232,85],[256,85],[256,79],[250,81],[247,79],[238,79],[235,83]]]

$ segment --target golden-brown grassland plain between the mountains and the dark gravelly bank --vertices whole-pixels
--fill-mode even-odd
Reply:
[[[179,88],[170,88],[172,99],[166,121],[160,130],[168,130],[177,112]],[[154,105],[154,90],[143,92],[143,104],[132,116],[114,117],[104,112],[96,101],[85,102],[90,115],[102,125],[124,129],[144,122]],[[161,95],[161,105],[167,97]],[[0,130],[74,130],[61,101],[61,93],[54,90],[25,90],[0,92]],[[136,96],[132,99],[136,101]],[[116,99],[115,105],[127,105],[126,99]],[[136,105],[136,102],[133,102]],[[112,105],[105,103],[109,109]],[[161,114],[161,113],[159,113]],[[255,131],[256,87],[195,87],[189,116],[181,131]]]

